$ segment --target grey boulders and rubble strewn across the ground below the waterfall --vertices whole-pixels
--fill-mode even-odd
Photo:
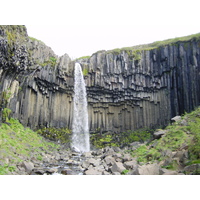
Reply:
[[[142,144],[135,142],[129,148],[106,147],[79,154],[60,146],[57,151],[43,152],[43,160],[33,156],[17,164],[12,175],[184,175],[192,173],[200,164],[193,164],[182,170],[174,171],[162,168],[162,162],[140,163],[128,150],[136,149]],[[183,152],[166,152],[170,159],[181,160]]]

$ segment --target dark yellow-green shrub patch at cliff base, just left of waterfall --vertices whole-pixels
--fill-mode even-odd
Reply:
[[[37,133],[52,141],[60,141],[61,143],[69,143],[71,138],[71,130],[68,128],[42,128]]]

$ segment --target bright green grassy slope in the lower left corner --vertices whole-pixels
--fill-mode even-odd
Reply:
[[[54,150],[58,147],[54,143],[46,142],[42,136],[29,128],[24,128],[16,119],[9,119],[0,126],[0,174],[7,174],[15,170],[16,163],[22,161],[22,156],[33,155],[42,160],[42,150]],[[6,163],[9,159],[9,164]]]

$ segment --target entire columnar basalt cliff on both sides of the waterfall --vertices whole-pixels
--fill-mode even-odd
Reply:
[[[151,50],[100,51],[83,68],[91,131],[121,132],[166,125],[200,103],[200,40]],[[31,128],[69,127],[74,61],[27,36],[24,26],[0,27],[0,91],[12,116]],[[3,94],[3,93],[2,93]]]

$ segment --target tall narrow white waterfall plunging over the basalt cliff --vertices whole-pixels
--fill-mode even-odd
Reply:
[[[79,63],[75,64],[74,79],[74,112],[71,147],[78,152],[88,152],[90,151],[90,138],[87,94],[82,68]]]

